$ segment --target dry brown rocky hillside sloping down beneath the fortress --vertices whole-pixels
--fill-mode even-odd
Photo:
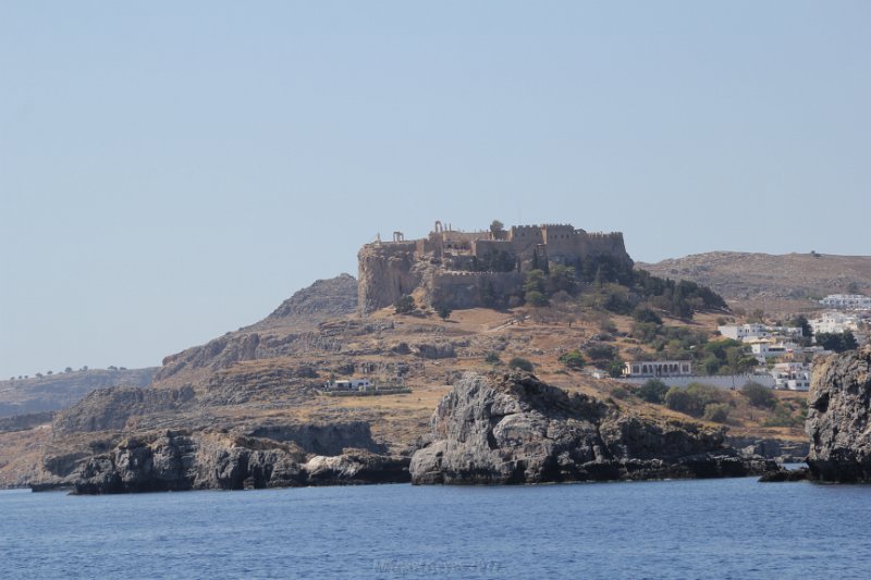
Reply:
[[[593,379],[587,370],[573,370],[560,360],[575,349],[590,359],[596,347],[612,348],[624,358],[648,348],[630,335],[630,317],[598,306],[598,291],[585,291],[578,300],[563,297],[544,308],[457,310],[446,320],[430,309],[397,314],[390,307],[359,318],[353,313],[353,281],[343,275],[316,283],[333,295],[327,304],[339,305],[320,322],[317,319],[323,317],[317,309],[312,318],[312,312],[295,306],[318,293],[300,291],[277,310],[279,314],[168,356],[148,388],[100,388],[61,411],[51,425],[0,433],[0,483],[58,481],[95,453],[130,437],[162,441],[155,439],[160,433],[191,433],[180,436],[201,445],[243,441],[260,448],[292,442],[298,446],[294,453],[308,458],[363,449],[407,460],[427,436],[438,402],[463,372],[502,373],[515,357],[530,361],[538,377],[568,392],[610,398],[639,417],[687,420],[645,403],[615,381]],[[713,336],[716,316],[698,313],[692,321],[666,317],[664,326]],[[318,394],[328,379],[351,377],[402,380],[413,393]],[[733,434],[800,437],[795,427],[766,427],[771,414],[749,408],[740,394],[724,396],[733,408]],[[801,407],[800,394],[778,396],[795,412]],[[203,439],[198,433],[229,435]]]

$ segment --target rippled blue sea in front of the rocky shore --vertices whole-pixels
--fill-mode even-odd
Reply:
[[[0,492],[2,578],[869,578],[871,486]]]

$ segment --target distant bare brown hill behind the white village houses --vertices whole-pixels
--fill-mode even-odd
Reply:
[[[769,313],[817,308],[827,294],[871,294],[871,256],[711,251],[636,268],[703,284],[733,307]]]

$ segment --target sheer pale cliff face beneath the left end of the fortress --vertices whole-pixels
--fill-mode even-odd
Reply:
[[[422,280],[414,243],[367,244],[357,254],[357,308],[367,314],[410,294]]]

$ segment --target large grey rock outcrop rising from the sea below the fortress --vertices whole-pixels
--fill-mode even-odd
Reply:
[[[721,431],[654,423],[547,385],[530,374],[465,374],[432,417],[432,442],[412,458],[412,482],[740,477],[774,469],[723,446]]]

